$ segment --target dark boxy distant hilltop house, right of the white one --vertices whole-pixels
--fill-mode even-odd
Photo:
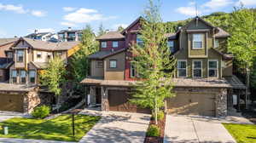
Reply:
[[[82,30],[73,30],[71,27],[58,32],[58,39],[61,42],[81,41],[81,38]]]

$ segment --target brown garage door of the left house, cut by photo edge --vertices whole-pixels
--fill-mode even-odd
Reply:
[[[0,94],[0,111],[23,112],[23,95]]]

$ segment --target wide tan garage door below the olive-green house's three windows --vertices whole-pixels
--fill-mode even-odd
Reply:
[[[211,93],[177,93],[166,100],[168,113],[215,116],[215,97]]]

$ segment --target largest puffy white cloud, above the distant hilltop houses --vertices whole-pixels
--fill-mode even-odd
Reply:
[[[64,15],[63,20],[64,22],[73,23],[73,24],[81,24],[81,23],[90,23],[91,21],[96,20],[109,20],[114,19],[114,16],[103,16],[100,14],[96,9],[78,9],[73,13],[69,13]],[[67,23],[64,23],[67,24]]]

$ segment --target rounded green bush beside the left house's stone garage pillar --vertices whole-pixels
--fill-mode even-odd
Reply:
[[[34,118],[44,118],[49,116],[49,106],[38,106],[32,112],[32,117]]]

